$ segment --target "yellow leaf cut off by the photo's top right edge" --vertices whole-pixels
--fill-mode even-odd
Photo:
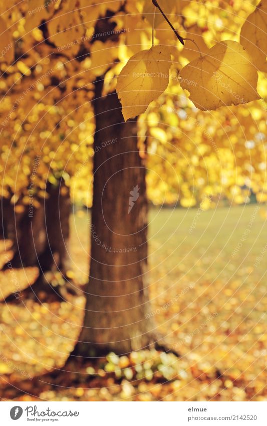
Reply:
[[[261,71],[267,71],[267,1],[261,2],[241,28],[240,43]]]

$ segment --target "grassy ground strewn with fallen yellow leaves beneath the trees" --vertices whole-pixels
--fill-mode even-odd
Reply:
[[[80,211],[72,220],[77,285],[88,273],[87,219]],[[256,205],[151,210],[150,315],[180,358],[154,350],[65,365],[84,298],[2,302],[0,397],[266,400],[265,219]]]

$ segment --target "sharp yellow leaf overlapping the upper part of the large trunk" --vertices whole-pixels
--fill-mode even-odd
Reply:
[[[170,51],[154,46],[133,55],[118,76],[117,93],[125,121],[145,112],[169,84]]]

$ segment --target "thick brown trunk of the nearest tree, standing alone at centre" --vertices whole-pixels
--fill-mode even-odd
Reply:
[[[90,278],[75,354],[118,354],[148,347],[145,167],[136,120],[124,122],[116,92],[95,84],[94,190]],[[147,316],[148,317],[148,316]]]

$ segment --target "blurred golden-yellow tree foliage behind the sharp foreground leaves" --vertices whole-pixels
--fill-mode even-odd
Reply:
[[[194,40],[202,55],[206,55],[207,49],[217,42],[237,42],[240,28],[249,14],[262,14],[265,7],[265,2],[262,2],[262,11],[259,12],[261,7],[255,10],[254,1],[241,0],[181,0],[173,3],[159,0],[159,4],[181,36]],[[43,196],[47,180],[55,184],[64,176],[67,185],[71,187],[72,198],[91,205],[92,180],[89,179],[88,184],[88,177],[92,177],[94,155],[95,125],[91,105],[93,82],[97,77],[103,77],[103,94],[113,91],[117,77],[129,58],[133,54],[142,55],[141,51],[151,48],[151,16],[146,17],[150,22],[144,19],[149,8],[150,0],[127,0],[126,3],[80,0],[75,11],[67,0],[25,0],[19,3],[12,0],[1,3],[0,44],[6,50],[0,60],[0,168],[3,171],[1,184],[5,197],[16,195],[16,200],[21,197],[24,203],[29,202],[28,187],[35,158],[41,155],[36,171],[35,195]],[[152,9],[150,12],[153,14],[154,7]],[[112,12],[112,17],[103,20],[108,10]],[[251,19],[250,15],[242,28],[241,42],[243,38],[252,39]],[[136,111],[134,101],[127,106],[127,110],[133,109],[133,115],[148,106],[147,115],[139,119],[139,129],[142,138],[147,132],[152,154],[148,157],[149,167],[154,168],[148,173],[150,199],[155,204],[161,203],[162,194],[167,189],[167,203],[180,202],[182,199],[182,204],[186,205],[195,201],[199,203],[201,197],[205,198],[207,176],[214,194],[218,192],[217,182],[223,181],[223,196],[234,198],[234,202],[246,199],[245,194],[237,194],[233,190],[239,181],[246,180],[247,183],[249,179],[250,188],[253,187],[256,193],[262,193],[264,142],[255,137],[266,131],[264,100],[249,104],[248,109],[241,103],[234,110],[228,110],[228,117],[225,108],[221,108],[215,114],[215,122],[210,113],[203,115],[196,110],[178,84],[178,75],[187,61],[199,58],[198,49],[189,40],[185,41],[183,48],[166,21],[162,17],[160,20],[155,29],[154,44],[155,48],[158,44],[163,45],[164,52],[171,53],[173,63],[170,72],[168,69],[165,72],[164,61],[159,67],[160,73],[169,74],[169,85],[167,87],[168,79],[162,78],[160,90],[157,91],[158,83],[155,86],[155,81],[151,81],[149,87],[152,84],[153,87],[150,93],[147,91],[148,98],[144,100],[143,109],[138,104],[139,110]],[[245,34],[246,27],[248,37]],[[261,34],[263,40],[260,41],[262,45],[258,45],[257,41],[252,42],[255,44],[251,59],[253,64],[257,62],[258,47],[264,52],[266,45],[264,30],[260,25],[257,34]],[[141,79],[139,82],[142,84]],[[194,90],[195,87],[191,85],[187,88]],[[162,90],[165,92],[160,94]],[[263,73],[259,75],[258,93],[263,98],[267,93]],[[151,103],[150,99],[155,100]],[[147,117],[148,123],[142,122]],[[194,124],[196,122],[199,124]],[[224,127],[227,131],[222,131]],[[195,146],[192,139],[197,140]],[[237,148],[234,153],[231,153],[232,147]],[[225,151],[229,159],[223,162],[226,171],[220,166],[220,156]],[[164,161],[157,163],[153,153],[157,153]],[[187,161],[181,159],[180,153]],[[251,153],[253,156],[250,158]],[[166,160],[175,166],[176,177],[166,167]],[[238,176],[237,184],[234,182],[234,174],[231,175],[229,171],[233,164],[236,164],[234,170]],[[197,195],[193,197],[195,190],[192,189],[188,170],[193,170],[197,175],[194,182]],[[168,177],[164,184],[158,182],[155,172],[159,176]],[[190,183],[185,184],[186,180]],[[177,182],[184,184],[180,192]],[[265,194],[265,189],[263,192]],[[261,194],[260,200],[263,199]],[[212,207],[210,200],[209,203]]]

